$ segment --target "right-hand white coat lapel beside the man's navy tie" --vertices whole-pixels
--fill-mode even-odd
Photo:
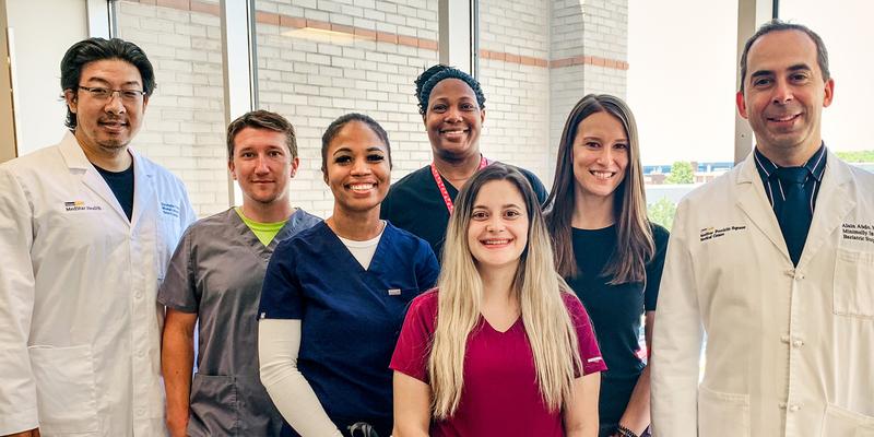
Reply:
[[[816,251],[829,241],[829,238],[834,238],[831,233],[840,226],[847,214],[855,209],[849,166],[831,152],[827,153],[823,185],[816,197],[811,231],[807,233],[799,267],[806,264]]]

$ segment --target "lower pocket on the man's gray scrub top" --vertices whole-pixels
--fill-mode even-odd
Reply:
[[[191,380],[191,436],[236,436],[239,433],[238,392],[233,376],[194,374]]]

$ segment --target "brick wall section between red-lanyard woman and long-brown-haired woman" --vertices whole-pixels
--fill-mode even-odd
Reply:
[[[625,97],[627,0],[480,0],[486,153],[552,184],[565,119],[588,93]],[[506,158],[505,158],[506,157]]]

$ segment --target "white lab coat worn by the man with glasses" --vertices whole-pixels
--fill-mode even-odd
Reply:
[[[166,435],[155,298],[194,213],[131,154],[130,221],[72,134],[0,165],[0,435]]]

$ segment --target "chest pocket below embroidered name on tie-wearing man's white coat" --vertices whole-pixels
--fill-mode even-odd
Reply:
[[[836,315],[874,318],[874,252],[838,248],[831,293]]]

